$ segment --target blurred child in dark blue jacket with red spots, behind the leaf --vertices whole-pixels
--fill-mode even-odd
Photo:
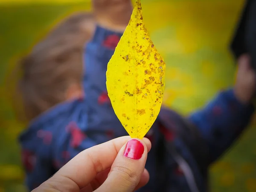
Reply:
[[[34,115],[29,116],[31,124],[20,137],[26,183],[30,190],[84,149],[127,135],[108,99],[105,73],[128,24],[131,1],[93,0],[93,8],[97,26],[84,52],[84,99],[79,99],[82,92],[82,53],[79,48],[75,55],[73,49],[57,52],[63,57],[54,58],[54,63],[48,66],[49,58],[56,52],[51,38],[45,39],[41,44],[48,46],[41,52],[47,54],[42,56],[34,51],[22,63],[26,67],[23,68],[20,91],[27,106],[25,109],[37,109],[28,113]],[[58,37],[58,33],[55,35]],[[65,36],[63,31],[62,35]],[[74,40],[65,42],[61,47],[69,47]],[[238,63],[235,87],[219,93],[189,118],[164,107],[161,109],[146,135],[152,142],[146,163],[150,180],[140,192],[208,191],[209,166],[241,134],[254,111],[250,101],[256,76],[246,55]],[[58,84],[58,79],[63,84]],[[34,85],[34,81],[41,83]],[[46,90],[45,94],[42,90]],[[52,98],[56,98],[55,102],[51,102]]]

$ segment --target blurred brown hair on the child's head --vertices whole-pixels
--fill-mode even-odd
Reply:
[[[84,44],[93,34],[93,16],[72,15],[60,23],[23,58],[17,91],[22,95],[26,120],[65,101],[70,84],[81,84]]]

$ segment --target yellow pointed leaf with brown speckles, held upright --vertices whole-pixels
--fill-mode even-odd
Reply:
[[[140,0],[108,63],[107,90],[116,116],[132,138],[142,139],[163,100],[165,62],[143,23]]]

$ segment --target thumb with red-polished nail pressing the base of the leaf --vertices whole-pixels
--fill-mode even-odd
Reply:
[[[142,175],[145,185],[149,180],[145,170],[147,154],[147,146],[142,140],[129,140],[117,154],[108,178],[95,192],[133,192]]]

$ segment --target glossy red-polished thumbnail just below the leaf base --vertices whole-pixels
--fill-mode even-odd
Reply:
[[[144,153],[144,146],[139,140],[129,140],[126,144],[124,156],[130,159],[139,160]]]

